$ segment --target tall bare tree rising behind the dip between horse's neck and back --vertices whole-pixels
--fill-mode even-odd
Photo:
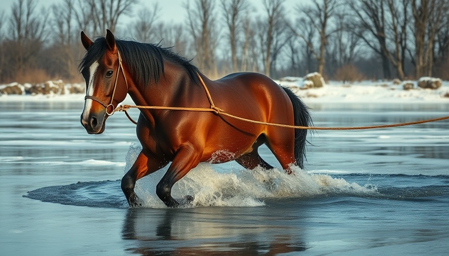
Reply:
[[[218,43],[216,14],[212,0],[187,1],[185,8],[188,25],[193,37],[198,65],[209,75],[217,75],[215,48]]]

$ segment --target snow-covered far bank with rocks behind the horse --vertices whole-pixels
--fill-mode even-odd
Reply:
[[[417,81],[404,81],[394,84],[393,81],[361,81],[344,84],[339,81],[329,81],[319,88],[304,88],[304,80],[300,77],[284,77],[275,80],[281,85],[288,86],[307,102],[447,102],[449,103],[449,81],[442,81],[437,89],[423,89],[417,86]],[[413,83],[413,89],[404,89],[405,82]],[[43,83],[39,86],[45,88],[58,87],[59,91],[50,90],[47,94],[39,92],[30,93],[30,84],[21,85],[11,83],[0,85],[0,88],[16,86],[22,89],[21,94],[0,94],[0,101],[84,101],[84,93],[73,93],[73,88],[84,88],[84,84],[53,85]],[[22,87],[21,87],[22,86]],[[35,85],[36,88],[37,85]],[[28,88],[28,90],[27,90]],[[72,88],[72,89],[71,89]],[[79,92],[79,91],[77,91]],[[125,103],[132,103],[128,98]]]

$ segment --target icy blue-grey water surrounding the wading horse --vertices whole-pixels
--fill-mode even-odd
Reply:
[[[310,103],[316,126],[406,122],[449,103]],[[129,209],[119,179],[139,151],[123,113],[103,135],[80,124],[83,102],[0,102],[1,255],[379,255],[449,251],[449,121],[318,131],[306,170],[200,164],[167,209],[158,171]],[[132,111],[132,110],[131,110]],[[136,116],[136,112],[131,114]],[[261,154],[278,166],[267,148]]]

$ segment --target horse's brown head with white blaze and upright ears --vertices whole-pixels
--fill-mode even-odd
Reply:
[[[80,64],[86,80],[81,123],[88,133],[99,134],[104,131],[108,116],[125,99],[128,85],[111,31],[107,30],[106,37],[97,38],[95,42],[81,32],[81,42],[87,50]]]

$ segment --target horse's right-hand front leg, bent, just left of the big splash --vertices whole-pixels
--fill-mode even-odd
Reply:
[[[199,151],[193,146],[185,146],[178,150],[167,172],[156,186],[156,194],[168,207],[178,207],[180,203],[171,197],[171,187],[189,170],[199,163]]]

